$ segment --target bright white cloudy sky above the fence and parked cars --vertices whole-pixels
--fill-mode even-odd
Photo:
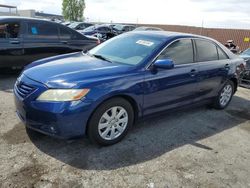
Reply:
[[[0,0],[18,9],[61,14],[62,0]],[[250,29],[250,0],[85,0],[93,22]]]

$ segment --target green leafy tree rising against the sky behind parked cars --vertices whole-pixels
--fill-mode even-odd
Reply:
[[[62,14],[65,20],[82,21],[84,9],[84,0],[63,0]]]

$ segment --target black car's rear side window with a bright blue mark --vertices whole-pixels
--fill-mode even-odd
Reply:
[[[58,39],[56,25],[49,23],[28,23],[29,38]]]

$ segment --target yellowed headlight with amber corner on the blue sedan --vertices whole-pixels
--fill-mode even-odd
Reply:
[[[43,92],[38,101],[77,101],[88,94],[89,89],[49,89]]]

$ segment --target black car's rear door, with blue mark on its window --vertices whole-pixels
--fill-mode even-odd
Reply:
[[[50,22],[26,22],[24,53],[26,64],[61,54],[57,24]]]

